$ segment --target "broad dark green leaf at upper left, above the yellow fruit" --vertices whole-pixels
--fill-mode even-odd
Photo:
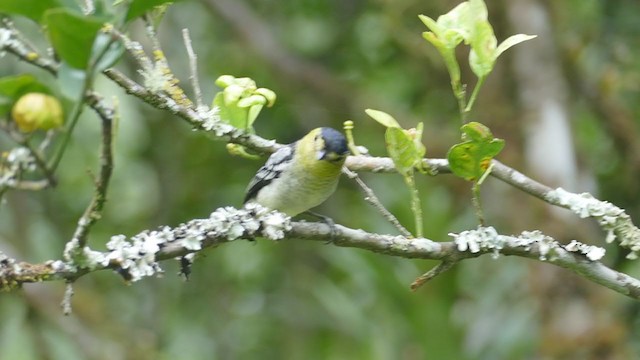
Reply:
[[[48,10],[44,14],[44,22],[57,54],[70,66],[86,69],[102,22],[66,9]]]

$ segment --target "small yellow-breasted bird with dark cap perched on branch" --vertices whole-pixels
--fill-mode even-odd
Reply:
[[[348,154],[341,132],[330,127],[313,129],[271,154],[249,183],[244,203],[292,217],[308,212],[336,190]]]

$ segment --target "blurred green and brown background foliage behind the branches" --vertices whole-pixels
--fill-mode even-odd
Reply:
[[[193,0],[169,9],[159,29],[172,69],[190,93],[181,29],[198,54],[204,97],[222,74],[249,76],[278,94],[256,124],[286,143],[317,126],[356,123],[356,141],[384,156],[376,108],[404,126],[425,122],[427,156],[459,140],[457,104],[418,14],[436,18],[457,1]],[[640,218],[640,3],[635,0],[487,1],[499,40],[539,38],[506,52],[471,119],[507,140],[499,159],[547,185],[592,191]],[[15,19],[43,49],[32,23]],[[138,24],[140,25],[140,24]],[[32,36],[31,36],[32,35]],[[148,43],[141,26],[131,36]],[[461,63],[467,54],[459,54]],[[50,76],[0,59],[0,75]],[[130,58],[117,67],[135,76]],[[469,71],[465,81],[473,83]],[[142,104],[100,78],[121,109],[116,168],[104,217],[90,244],[111,235],[206,217],[238,206],[261,162],[230,156],[223,143]],[[59,185],[11,192],[0,209],[0,251],[20,260],[60,258],[92,195],[100,129],[90,111],[73,134]],[[2,150],[11,146],[2,138]],[[544,151],[548,152],[545,153]],[[412,228],[409,194],[397,175],[362,174]],[[469,185],[421,177],[425,235],[476,226]],[[605,246],[591,221],[550,209],[495,179],[483,187],[486,219],[504,234],[541,229],[563,242]],[[336,222],[395,233],[343,179],[319,209]],[[640,276],[636,262],[606,245],[607,264]],[[622,359],[640,357],[638,303],[565,270],[520,258],[466,261],[415,293],[434,262],[316,242],[237,241],[204,251],[189,281],[177,262],[163,278],[126,286],[111,272],[75,284],[62,315],[62,283],[0,294],[1,359]]]

